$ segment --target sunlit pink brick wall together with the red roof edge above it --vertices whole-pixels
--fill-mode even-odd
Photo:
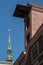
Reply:
[[[27,6],[29,6],[29,4],[27,4]],[[43,23],[43,6],[38,6],[35,4],[30,4],[30,6],[32,6],[30,12],[30,23],[31,23],[31,37],[33,37],[36,31]]]

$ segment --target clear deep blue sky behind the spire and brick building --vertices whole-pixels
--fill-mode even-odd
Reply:
[[[26,5],[28,2],[43,5],[43,0],[0,0],[0,61],[6,59],[9,28],[13,60],[24,50],[24,20],[13,17],[13,12],[17,4]]]

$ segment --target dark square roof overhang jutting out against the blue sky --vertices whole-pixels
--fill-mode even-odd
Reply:
[[[13,16],[25,18],[25,15],[27,15],[29,13],[30,8],[31,8],[31,6],[23,6],[23,5],[17,4]]]

